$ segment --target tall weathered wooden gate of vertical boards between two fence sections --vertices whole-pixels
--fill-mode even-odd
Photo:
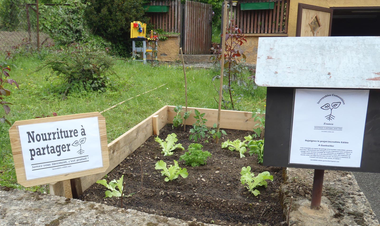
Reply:
[[[212,5],[186,1],[182,50],[184,54],[210,54]]]

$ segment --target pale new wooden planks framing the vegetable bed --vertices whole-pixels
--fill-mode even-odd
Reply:
[[[162,129],[166,124],[173,123],[173,118],[177,114],[174,112],[175,106],[164,106],[160,110],[156,111],[148,118],[144,119],[141,123],[137,124],[127,132],[125,132],[116,140],[108,144],[109,155],[109,167],[102,173],[81,177],[82,191],[85,191],[97,180],[103,178],[107,173],[111,172],[117,165],[120,164],[127,156],[133,153],[139,146],[141,146],[150,136],[154,135],[154,131]],[[190,117],[186,119],[186,125],[192,125],[195,123],[195,109],[201,113],[205,113],[204,118],[208,119],[206,126],[212,127],[214,123],[217,123],[217,109],[208,108],[191,108],[188,107],[188,111],[192,111]],[[239,129],[253,131],[257,128],[256,124],[260,124],[259,121],[255,121],[252,118],[252,112],[249,111],[230,111],[222,110],[220,113],[220,128],[223,129]],[[57,196],[65,196],[65,189],[63,188],[62,181],[51,183],[49,185],[50,193]],[[78,190],[78,189],[77,189]],[[80,189],[79,189],[80,190]]]

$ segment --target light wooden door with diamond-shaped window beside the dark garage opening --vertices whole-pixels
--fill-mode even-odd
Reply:
[[[330,36],[331,22],[332,10],[299,3],[296,36]]]

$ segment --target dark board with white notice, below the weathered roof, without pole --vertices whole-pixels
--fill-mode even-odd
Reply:
[[[341,92],[350,93],[352,91],[350,89],[310,89],[310,91],[306,92],[310,92],[310,95],[312,96],[315,95],[315,99],[308,100],[310,105],[315,105],[315,107],[310,107],[309,105],[303,105],[304,102],[302,102],[302,99],[296,99],[297,91],[302,92],[305,90],[307,89],[280,87],[267,88],[263,165],[379,173],[380,164],[378,164],[378,162],[380,161],[380,130],[377,128],[380,128],[380,108],[378,107],[380,106],[380,92],[375,89],[359,90],[363,91],[363,93],[356,94],[359,95],[357,99],[351,99],[350,97],[342,97],[346,94],[341,94]],[[315,90],[320,90],[319,92],[324,95],[315,94]],[[328,91],[326,92],[326,90]],[[321,109],[320,107],[323,107],[326,103],[329,103],[331,106],[331,103],[339,102],[340,99],[338,100],[337,97],[328,96],[329,98],[325,97],[318,104],[322,97],[329,94],[338,95],[344,100],[345,104],[343,105],[341,103],[339,107],[333,108],[332,111],[331,109]],[[354,103],[356,102],[355,106],[346,107],[346,105],[349,106],[348,102],[351,100],[353,100]],[[300,104],[298,107],[297,102]],[[302,110],[297,113],[300,107],[306,109],[306,113],[303,117],[305,121],[296,122],[296,124],[298,124],[298,126],[302,126],[302,128],[294,134],[296,128],[293,127],[293,121],[296,117],[298,117],[299,113],[303,113]],[[342,110],[340,110],[340,108],[342,108]],[[365,112],[363,113],[362,111]],[[330,122],[334,125],[323,125],[323,123],[326,123],[325,117],[330,115],[330,113],[334,116],[334,119],[330,120]],[[339,119],[342,113],[344,113],[345,116],[343,119]],[[315,117],[321,117],[322,119],[315,119]],[[316,122],[317,120],[321,121],[316,122],[317,124],[307,124],[306,121],[308,120],[312,120],[313,122]],[[339,122],[340,120],[343,121]],[[320,124],[320,122],[322,124]],[[329,120],[327,120],[327,123],[328,122]],[[337,122],[337,124],[335,122]],[[306,129],[308,125],[312,125],[312,128],[309,130]],[[314,132],[314,128],[317,127],[325,127],[323,129],[326,129],[327,127],[335,126],[342,127],[342,131],[333,130],[334,133]],[[339,132],[346,132],[348,137],[345,138],[342,136],[339,138]],[[298,138],[300,140],[299,143],[294,142],[294,139]],[[334,145],[334,147],[322,145]],[[323,147],[326,150],[320,151],[320,147]],[[318,148],[318,153],[315,153],[315,156],[318,156],[318,158],[322,160],[325,158],[327,158],[326,160],[331,158],[326,157],[326,154],[328,153],[327,149],[339,149],[345,150],[346,152],[343,151],[343,153],[340,153],[340,159],[338,159],[339,162],[316,161],[314,163],[314,161],[310,160],[310,155],[301,156],[301,148]],[[296,151],[297,149],[299,150],[298,153],[291,153],[292,150]],[[350,154],[348,154],[348,150],[350,151]],[[303,153],[307,153],[307,151]],[[295,158],[292,158],[291,160],[292,154],[294,154],[293,157]],[[355,154],[355,157],[353,154]],[[342,158],[348,156],[350,156],[349,160],[347,158]]]

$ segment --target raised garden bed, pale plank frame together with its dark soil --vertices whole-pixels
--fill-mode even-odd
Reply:
[[[194,143],[188,140],[191,126],[187,126],[186,132],[183,132],[183,129],[173,130],[170,124],[175,114],[173,108],[173,106],[161,108],[111,142],[108,147],[110,168],[112,168],[103,175],[82,177],[80,181],[84,194],[81,199],[120,207],[120,198],[104,199],[106,188],[95,182],[105,178],[106,174],[108,182],[124,175],[126,183],[124,193],[132,194],[123,200],[123,206],[126,208],[183,220],[196,218],[197,221],[204,223],[221,225],[240,223],[279,225],[284,221],[278,192],[282,183],[282,168],[264,167],[257,164],[256,156],[245,153],[246,157],[240,158],[236,151],[221,149],[221,143],[228,138],[244,140],[244,136],[252,134],[256,122],[251,118],[251,113],[222,111],[220,127],[225,129],[227,135],[222,136],[219,144],[201,142],[203,150],[209,151],[212,156],[206,165],[191,167],[185,166],[183,161],[178,161],[179,156],[187,151],[188,145]],[[194,109],[188,108],[193,113]],[[204,118],[209,120],[207,126],[212,126],[216,122],[217,110],[196,109],[206,113]],[[186,124],[193,123],[194,118],[190,116]],[[153,131],[157,133],[158,130],[160,130],[159,137],[163,140],[168,134],[176,133],[177,143],[182,143],[185,151],[176,150],[173,156],[163,156],[159,144],[154,141]],[[140,160],[143,169],[143,188],[141,188]],[[168,165],[173,164],[173,160],[178,161],[180,167],[187,169],[188,177],[165,182],[161,170],[154,169],[158,160],[163,160]],[[268,188],[258,188],[261,194],[254,196],[240,183],[240,172],[244,166],[250,166],[251,172],[255,175],[269,171],[274,177],[273,182],[268,181]],[[60,192],[59,183],[50,187],[52,193]]]

